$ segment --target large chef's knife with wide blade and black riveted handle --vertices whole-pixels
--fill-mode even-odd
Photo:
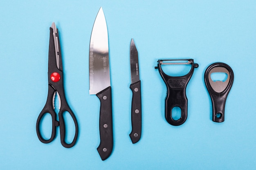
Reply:
[[[100,100],[99,134],[97,148],[101,159],[106,160],[113,149],[112,96],[108,57],[108,29],[102,8],[94,21],[89,52],[90,95]]]

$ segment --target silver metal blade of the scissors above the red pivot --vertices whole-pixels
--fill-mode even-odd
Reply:
[[[52,23],[51,26],[53,30],[53,42],[54,42],[54,51],[55,51],[55,60],[56,60],[56,66],[59,70],[62,70],[62,63],[61,63],[61,48],[60,48],[60,42],[59,42],[59,35],[58,35],[58,29],[56,28],[55,23]],[[51,41],[51,40],[50,40]],[[61,65],[61,68],[60,68]]]

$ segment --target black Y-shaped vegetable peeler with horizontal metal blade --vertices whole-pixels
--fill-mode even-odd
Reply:
[[[187,62],[184,62],[187,61]],[[167,87],[167,93],[165,98],[165,118],[166,121],[173,126],[182,125],[187,118],[187,97],[186,97],[186,86],[192,77],[194,68],[198,68],[198,64],[194,63],[193,59],[182,59],[182,60],[158,60],[158,64],[155,67],[158,68],[158,71],[161,77],[164,80],[164,83]],[[162,64],[191,64],[191,70],[188,74],[180,77],[173,77],[166,75],[162,68]],[[174,120],[172,117],[172,110],[174,107],[179,107],[181,109],[181,117],[178,120]]]

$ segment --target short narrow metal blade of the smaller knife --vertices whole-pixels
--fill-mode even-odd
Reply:
[[[139,59],[138,51],[132,39],[130,44],[130,69],[131,69],[131,84],[139,81]]]

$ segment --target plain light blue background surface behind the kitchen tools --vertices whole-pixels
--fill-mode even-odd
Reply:
[[[90,34],[100,7],[108,25],[113,103],[114,149],[106,161],[96,150],[99,99],[89,95]],[[255,0],[2,0],[0,16],[0,169],[255,169]],[[36,135],[48,91],[52,22],[60,33],[67,102],[79,123],[79,138],[69,149],[61,145],[59,128],[50,144]],[[131,38],[142,89],[137,144],[129,137]],[[166,86],[154,66],[158,59],[181,58],[193,58],[199,68],[186,89],[188,119],[175,127],[165,120]],[[211,120],[204,84],[204,71],[214,62],[227,63],[235,77],[223,123]],[[45,137],[49,120],[43,121]],[[72,121],[68,126],[71,140]]]

